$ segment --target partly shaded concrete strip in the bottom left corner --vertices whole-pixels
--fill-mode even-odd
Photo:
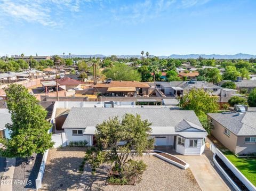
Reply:
[[[3,180],[1,184],[0,191],[12,191],[12,180],[15,169],[15,158],[6,159],[6,169],[3,176],[9,176],[9,178]]]

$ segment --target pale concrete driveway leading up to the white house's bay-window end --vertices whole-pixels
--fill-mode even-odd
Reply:
[[[189,168],[203,191],[233,190],[229,182],[222,177],[220,172],[218,173],[218,169],[213,167],[214,164],[209,160],[212,157],[212,153],[209,150],[205,150],[202,155],[176,156],[190,165]]]

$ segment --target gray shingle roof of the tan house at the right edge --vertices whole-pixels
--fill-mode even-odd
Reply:
[[[212,119],[238,136],[256,135],[256,112],[208,113]]]

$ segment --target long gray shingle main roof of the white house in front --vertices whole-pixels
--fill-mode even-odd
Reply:
[[[109,117],[121,118],[125,113],[140,114],[142,120],[148,120],[152,127],[175,127],[183,119],[197,128],[201,128],[194,111],[170,110],[168,108],[72,108],[62,128],[85,128],[96,126]],[[204,130],[205,131],[205,130]]]

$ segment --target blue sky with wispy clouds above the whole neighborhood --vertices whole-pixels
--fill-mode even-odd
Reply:
[[[255,7],[255,0],[0,0],[0,55],[255,55]]]

